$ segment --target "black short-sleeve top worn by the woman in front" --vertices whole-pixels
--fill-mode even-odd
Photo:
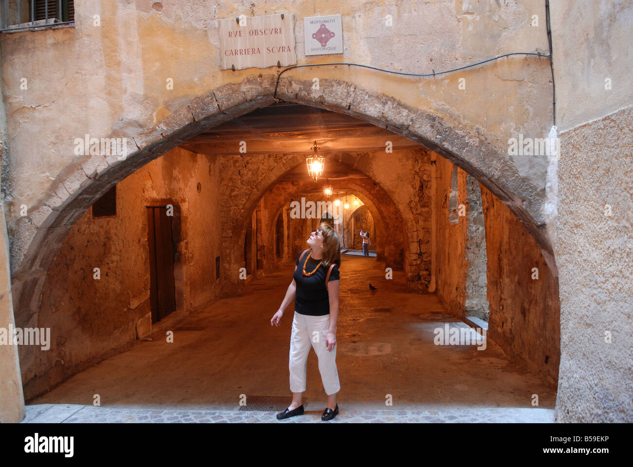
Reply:
[[[301,264],[299,264],[299,258],[301,254],[306,251],[301,251],[294,262],[297,265],[297,270],[294,271],[294,283],[297,285],[296,295],[294,297],[294,311],[299,314],[308,314],[310,316],[323,316],[324,314],[330,314],[330,297],[325,287],[325,277],[330,266],[321,265],[318,270],[311,276],[303,275],[303,264],[308,258],[310,251],[306,251],[301,258]],[[306,265],[306,272],[311,273],[316,265],[320,263],[320,260],[313,258],[308,259]],[[329,282],[333,280],[340,280],[341,275],[339,273],[339,266],[334,265],[332,272],[330,273]]]

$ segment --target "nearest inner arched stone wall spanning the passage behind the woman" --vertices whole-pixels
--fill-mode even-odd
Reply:
[[[384,259],[385,265],[394,270],[404,269],[411,289],[427,290],[431,275],[430,208],[427,207],[430,206],[430,183],[424,182],[430,180],[428,151],[399,150],[394,151],[393,155],[389,154],[389,158],[384,158],[381,151],[341,153],[332,157],[348,166],[356,175],[338,184],[336,189],[355,193],[372,211],[377,225],[375,241],[379,259]],[[264,206],[260,204],[261,197],[270,190],[268,204],[265,202],[267,207],[262,213],[265,218],[263,225],[266,226],[264,230],[269,232],[264,234],[265,251],[274,251],[274,235],[270,232],[277,213],[284,206],[289,208],[288,199],[301,202],[301,196],[315,189],[311,180],[277,182],[269,178],[271,174],[282,177],[296,166],[304,165],[304,159],[301,154],[241,154],[239,159],[235,156],[219,157],[226,184],[222,194],[222,206],[225,207],[221,213],[222,236],[225,251],[230,251],[230,256],[234,258],[232,263],[223,263],[223,277],[227,278],[223,282],[224,296],[241,294],[243,283],[237,279],[237,268],[243,256],[247,228],[245,219],[252,212],[251,209]],[[322,197],[306,196],[307,199],[319,201]],[[294,224],[291,223],[293,232],[298,228]],[[298,251],[308,238],[310,227],[306,229],[301,230],[305,236],[296,232],[292,234],[294,241],[290,239],[292,247]],[[419,254],[418,239],[423,248]],[[413,246],[416,252],[409,254]],[[291,255],[291,260],[295,257]],[[273,255],[268,255],[264,261],[264,269],[270,269],[277,260]]]

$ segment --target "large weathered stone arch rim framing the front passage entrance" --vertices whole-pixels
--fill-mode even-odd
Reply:
[[[129,155],[126,159],[119,161],[116,156],[85,156],[61,171],[49,192],[29,209],[30,214],[9,225],[13,240],[13,302],[16,311],[27,318],[25,321],[37,313],[46,271],[68,230],[85,209],[111,185],[189,137],[273,103],[275,84],[272,75],[251,75],[242,82],[220,86],[182,104],[160,125],[142,128],[135,122],[120,121],[108,137],[128,139]],[[352,82],[323,79],[319,90],[311,89],[311,84],[284,77],[279,80],[277,97],[356,116],[401,134],[449,159],[503,201],[552,260],[550,264],[554,264],[551,245],[542,227],[544,189],[521,177],[504,151],[478,130],[465,127],[454,119],[412,108],[386,94],[371,92]],[[294,161],[291,159],[275,167],[258,180],[245,180],[245,185],[251,190],[235,209],[247,212],[261,192],[293,163],[298,164],[302,160],[301,156],[295,156]],[[223,237],[234,237],[234,232],[224,232]]]

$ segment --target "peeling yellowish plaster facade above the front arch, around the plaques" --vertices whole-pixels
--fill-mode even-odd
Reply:
[[[548,49],[540,0],[503,6],[454,0],[417,0],[403,6],[383,1],[317,6],[284,0],[256,2],[248,8],[230,1],[174,1],[160,9],[147,0],[77,0],[74,28],[15,32],[0,38],[11,148],[3,192],[13,270],[22,263],[34,230],[49,225],[69,196],[91,185],[94,173],[108,171],[111,163],[106,160],[75,156],[76,138],[85,134],[127,137],[130,154],[139,147],[147,148],[144,156],[149,156],[159,150],[155,143],[161,142],[161,134],[168,137],[182,129],[182,115],[187,116],[187,123],[209,115],[201,107],[187,108],[194,99],[204,96],[207,104],[219,99],[217,105],[211,104],[215,111],[219,107],[220,113],[223,109],[239,113],[232,108],[236,96],[215,92],[222,85],[239,84],[246,78],[260,80],[270,99],[277,70],[220,70],[218,18],[280,12],[294,14],[298,63],[304,65],[328,62],[332,57],[304,55],[302,18],[335,13],[343,18],[345,46],[344,54],[334,59],[390,70],[432,73],[498,54],[546,53]],[[387,14],[394,18],[393,25],[385,24]],[[534,14],[541,17],[538,27],[530,25]],[[100,16],[101,26],[94,25],[94,15]],[[376,120],[382,116],[373,113],[380,109],[380,115],[397,121],[402,131],[423,133],[437,147],[446,147],[455,158],[477,166],[480,178],[493,177],[498,171],[499,165],[491,158],[503,159],[503,173],[491,184],[517,209],[527,209],[536,224],[542,223],[543,161],[535,158],[532,163],[519,163],[506,160],[503,154],[509,137],[518,133],[544,136],[549,130],[548,59],[511,56],[423,78],[347,66],[301,68],[288,76],[292,83],[288,78],[282,80],[283,96],[301,94],[306,101],[335,103],[341,108],[342,101],[349,101],[346,108],[350,113],[372,114]],[[27,78],[28,89],[21,89],[22,78]],[[313,78],[322,82],[318,91],[307,85]],[[465,89],[459,87],[461,78]],[[167,80],[173,80],[173,89]],[[330,85],[332,80],[344,85]],[[376,106],[368,95],[396,99],[410,106],[411,112],[382,103]],[[416,111],[434,115],[436,120],[413,121]],[[179,121],[177,128],[172,126],[174,121]],[[444,122],[451,123],[444,128]],[[454,134],[449,128],[456,128]],[[20,216],[22,204],[34,216],[34,225]]]

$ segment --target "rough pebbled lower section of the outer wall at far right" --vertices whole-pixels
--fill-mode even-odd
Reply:
[[[560,135],[558,421],[633,421],[632,128],[629,107]]]

